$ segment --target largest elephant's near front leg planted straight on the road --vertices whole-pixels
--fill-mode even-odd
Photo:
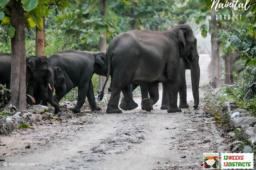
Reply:
[[[177,106],[178,91],[180,86],[179,72],[178,73],[175,72],[175,69],[173,68],[172,72],[167,75],[169,75],[168,77],[169,109],[167,110],[167,112],[168,113],[181,112],[181,109],[178,108]]]

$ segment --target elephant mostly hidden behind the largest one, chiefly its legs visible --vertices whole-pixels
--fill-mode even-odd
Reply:
[[[179,67],[179,74],[180,74],[180,86],[179,86],[179,96],[180,96],[180,104],[179,108],[188,108],[189,105],[187,104],[187,85],[186,85],[186,76],[185,76],[185,70],[190,69],[190,64],[186,58],[180,58],[180,67]],[[128,90],[130,90],[130,95],[132,95],[132,92],[138,87],[139,85],[132,85]],[[140,85],[141,89],[141,100],[148,99],[148,87],[146,84]],[[151,94],[149,94],[151,95]],[[124,97],[121,100],[121,103],[119,107],[123,110],[133,110],[138,107],[138,105],[134,105],[132,102],[126,102],[129,99],[125,99]],[[132,105],[133,104],[133,105]],[[153,106],[153,105],[152,105]],[[162,110],[167,110],[169,108],[169,97],[168,97],[168,88],[163,86],[163,92],[162,92]],[[151,111],[153,108],[141,108],[142,110]]]

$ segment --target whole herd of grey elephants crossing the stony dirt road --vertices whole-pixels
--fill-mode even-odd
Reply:
[[[181,112],[189,107],[186,101],[185,69],[191,69],[194,108],[199,104],[199,55],[196,38],[189,25],[183,24],[170,30],[157,32],[132,30],[117,35],[109,44],[107,52],[65,50],[49,58],[31,56],[26,59],[26,93],[33,96],[35,104],[55,108],[61,112],[59,101],[72,88],[78,87],[77,105],[72,109],[79,113],[87,96],[91,110],[97,107],[91,78],[94,73],[109,76],[111,97],[107,113],[122,113],[138,105],[132,99],[132,91],[140,85],[142,109],[151,111],[159,99],[158,84],[163,84],[161,109],[168,113]],[[11,54],[0,54],[0,84],[10,88]],[[55,95],[53,95],[55,89]],[[120,93],[124,98],[118,107]],[[177,106],[178,92],[180,105]],[[148,97],[149,94],[149,97]],[[98,98],[103,98],[102,90]],[[2,101],[0,107],[5,106]],[[32,104],[27,98],[27,103]]]

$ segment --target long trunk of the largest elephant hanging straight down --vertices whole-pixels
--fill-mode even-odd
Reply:
[[[200,79],[200,67],[198,61],[192,60],[190,62],[192,92],[194,97],[194,108],[199,104],[199,79]]]

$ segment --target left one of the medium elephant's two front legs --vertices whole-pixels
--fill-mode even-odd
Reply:
[[[74,109],[72,109],[72,112],[74,112],[74,113],[81,112],[80,109],[85,102],[85,98],[86,98],[86,95],[88,92],[89,82],[90,82],[90,80],[88,80],[87,82],[84,82],[84,81],[79,82],[77,105],[74,107]]]

